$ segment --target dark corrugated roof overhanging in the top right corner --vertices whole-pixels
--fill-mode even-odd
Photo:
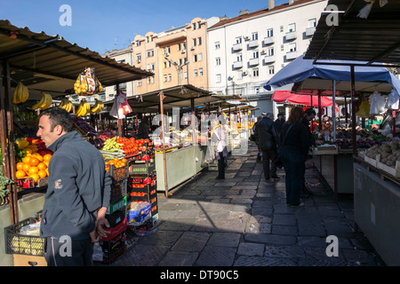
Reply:
[[[380,7],[375,1],[367,19],[357,17],[368,3],[354,0],[330,0],[338,7],[338,25],[329,26],[329,13],[318,21],[316,33],[305,59],[342,59],[400,64],[400,2],[389,0]],[[327,17],[328,21],[327,21]]]

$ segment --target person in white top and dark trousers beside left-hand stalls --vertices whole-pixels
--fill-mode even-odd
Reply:
[[[225,130],[218,120],[212,120],[211,142],[218,161],[218,176],[215,179],[225,179],[225,157],[228,156]]]

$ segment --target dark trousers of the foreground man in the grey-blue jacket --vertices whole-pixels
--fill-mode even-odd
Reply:
[[[91,239],[67,242],[53,237],[45,239],[47,266],[92,266],[93,243]]]

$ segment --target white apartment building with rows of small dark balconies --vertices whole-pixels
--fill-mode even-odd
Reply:
[[[273,91],[260,85],[307,51],[326,0],[289,0],[268,9],[239,15],[208,28],[210,91],[241,95],[260,107],[277,112]]]

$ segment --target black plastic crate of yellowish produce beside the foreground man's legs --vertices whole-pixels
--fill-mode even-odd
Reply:
[[[21,233],[21,228],[37,223],[36,218],[28,218],[4,228],[5,253],[12,255],[44,256],[44,238]]]

